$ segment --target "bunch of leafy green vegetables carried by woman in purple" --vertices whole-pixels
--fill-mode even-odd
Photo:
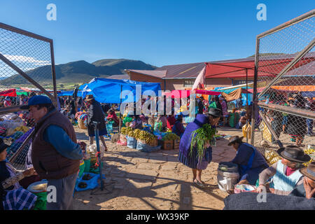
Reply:
[[[211,125],[205,124],[191,134],[190,141],[190,155],[193,154],[193,148],[197,148],[197,156],[201,160],[204,154],[204,149],[207,148],[207,144],[211,143],[216,134],[216,129],[212,128]]]

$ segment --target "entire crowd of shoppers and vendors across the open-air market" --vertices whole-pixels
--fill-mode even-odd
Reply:
[[[151,97],[141,100],[141,106],[149,100]],[[162,100],[165,102],[164,109],[158,103],[156,111],[166,111],[166,97]],[[305,100],[299,94],[295,94],[290,100],[286,102],[283,99],[281,103],[314,111],[312,99]],[[208,125],[215,132],[220,126],[241,128],[251,122],[251,104],[244,109],[243,102],[238,99],[233,113],[238,111],[239,118],[234,116],[231,119],[233,113],[228,112],[228,102],[224,97],[218,96],[211,96],[209,100],[198,97],[194,108],[197,116],[193,120],[189,120],[189,116],[181,113],[190,109],[189,100],[180,111],[174,111],[174,99],[172,99],[170,113],[157,113],[155,116],[144,113],[135,114],[136,104],[134,104],[132,109],[127,109],[125,114],[120,115],[123,116],[121,122],[116,115],[118,105],[101,104],[94,99],[92,94],[84,99],[76,96],[58,97],[57,108],[48,97],[36,93],[15,97],[15,99],[5,97],[1,101],[1,106],[18,105],[23,110],[18,112],[18,116],[25,121],[27,126],[32,127],[33,131],[25,170],[17,170],[8,162],[7,149],[10,146],[0,139],[0,199],[2,202],[0,209],[6,210],[36,208],[37,197],[30,193],[27,187],[43,179],[48,181],[48,186],[57,188],[57,202],[47,202],[48,210],[73,208],[73,190],[85,151],[85,144],[77,141],[73,128],[73,125],[80,120],[83,120],[87,127],[90,144],[93,144],[94,129],[97,127],[105,151],[107,148],[104,136],[109,132],[109,125],[113,127],[122,125],[133,129],[143,129],[147,125],[151,127],[152,132],[173,132],[181,137],[179,162],[192,169],[192,183],[200,188],[207,187],[207,183],[202,181],[202,171],[207,169],[212,160],[212,147],[215,146],[216,140],[214,138],[214,142],[212,140],[204,142],[206,147],[200,156],[197,146],[190,146],[192,132],[200,130],[204,125]],[[277,153],[281,156],[281,160],[269,167],[265,158],[254,146],[242,141],[243,137],[231,137],[228,145],[235,149],[236,156],[229,162],[239,167],[238,183],[257,186],[256,193],[266,190],[274,195],[311,199],[315,195],[315,164],[311,162],[308,167],[302,166],[304,162],[309,162],[310,158],[300,146],[304,134],[312,134],[313,120],[307,121],[304,118],[270,111],[263,112],[269,116],[276,133],[283,131],[290,134],[296,146],[279,148]],[[259,117],[256,119],[259,120]],[[299,130],[293,127],[297,126],[297,123]],[[302,131],[301,127],[303,127]]]

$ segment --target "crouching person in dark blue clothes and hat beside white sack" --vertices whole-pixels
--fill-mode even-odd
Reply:
[[[233,146],[237,152],[235,158],[231,161],[239,166],[239,183],[249,183],[255,186],[260,172],[269,166],[265,158],[251,146],[242,141],[244,137],[234,136],[230,138],[228,146]]]

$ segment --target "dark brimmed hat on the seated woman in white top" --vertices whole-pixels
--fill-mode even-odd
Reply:
[[[286,146],[276,151],[282,158],[291,162],[309,162],[311,158],[305,154],[302,148],[297,146]]]

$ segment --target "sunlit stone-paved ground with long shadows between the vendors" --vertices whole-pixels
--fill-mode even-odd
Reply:
[[[89,144],[87,131],[75,127],[79,140]],[[219,134],[241,135],[232,128],[220,128]],[[227,139],[217,141],[213,160],[202,173],[209,186],[201,189],[193,184],[191,169],[178,162],[178,150],[144,153],[106,141],[104,154],[105,189],[86,190],[74,194],[73,209],[78,210],[214,210],[223,209],[228,193],[217,183],[218,163],[230,161],[235,150]]]

